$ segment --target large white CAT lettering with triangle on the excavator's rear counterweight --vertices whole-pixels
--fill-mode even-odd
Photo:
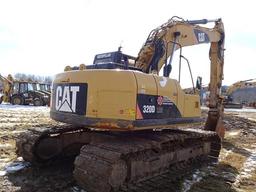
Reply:
[[[79,86],[57,86],[55,109],[57,111],[76,113]]]

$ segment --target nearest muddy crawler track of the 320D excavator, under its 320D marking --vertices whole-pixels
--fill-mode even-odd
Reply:
[[[74,177],[88,191],[117,191],[200,158],[217,158],[220,140],[209,131],[163,130],[102,134],[75,160]],[[129,190],[128,190],[129,191]]]

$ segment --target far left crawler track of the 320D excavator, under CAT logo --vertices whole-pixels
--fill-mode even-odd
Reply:
[[[80,148],[90,142],[89,139],[90,133],[81,127],[34,127],[17,138],[17,155],[36,165],[52,164],[78,155]]]

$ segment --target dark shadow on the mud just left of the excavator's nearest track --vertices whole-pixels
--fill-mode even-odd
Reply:
[[[62,162],[48,167],[27,167],[9,174],[8,180],[20,188],[19,192],[66,192],[75,185],[72,172],[73,163]]]

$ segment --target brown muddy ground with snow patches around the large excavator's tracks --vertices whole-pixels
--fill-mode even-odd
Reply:
[[[72,177],[72,162],[32,167],[15,153],[15,139],[31,126],[57,122],[49,108],[0,105],[0,191],[83,191]],[[256,111],[228,110],[227,131],[217,164],[194,167],[167,191],[256,191]],[[168,184],[169,185],[169,184]],[[168,185],[166,187],[168,188]],[[178,187],[177,187],[178,186]]]

